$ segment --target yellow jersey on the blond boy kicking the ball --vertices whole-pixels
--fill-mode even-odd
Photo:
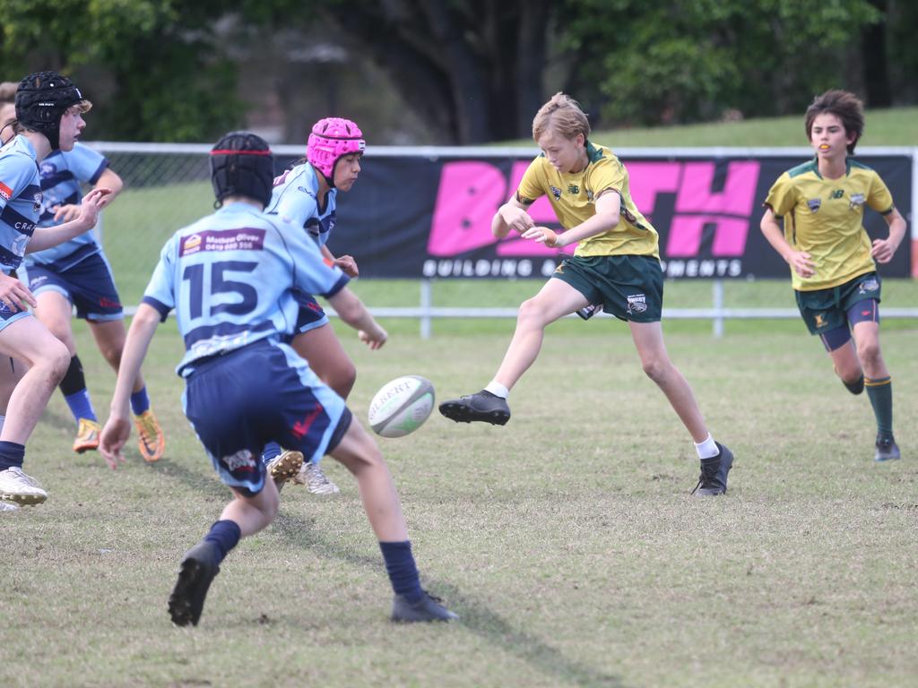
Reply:
[[[608,232],[577,243],[576,256],[654,256],[660,257],[659,237],[634,205],[628,188],[628,171],[605,146],[587,141],[588,163],[583,172],[565,174],[540,155],[523,174],[517,199],[529,204],[547,195],[554,215],[565,229],[577,227],[596,215],[593,199],[606,189],[621,196],[619,224]]]

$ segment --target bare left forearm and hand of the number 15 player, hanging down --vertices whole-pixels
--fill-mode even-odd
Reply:
[[[160,324],[161,316],[151,305],[140,304],[130,323],[128,338],[118,366],[118,382],[112,395],[111,410],[99,437],[99,451],[108,467],[114,470],[124,462],[121,449],[130,437],[130,392],[146,358],[151,339]]]

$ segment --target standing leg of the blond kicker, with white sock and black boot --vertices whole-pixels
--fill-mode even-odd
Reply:
[[[701,409],[695,400],[689,382],[685,379],[666,353],[663,341],[663,327],[655,323],[629,322],[634,346],[644,372],[666,394],[666,399],[676,411],[682,424],[695,441],[701,464],[699,482],[692,494],[716,496],[727,492],[727,474],[733,467],[733,452],[715,442],[704,424]]]

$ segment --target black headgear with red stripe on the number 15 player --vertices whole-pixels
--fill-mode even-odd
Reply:
[[[248,131],[224,134],[210,151],[210,183],[216,207],[227,196],[245,196],[268,205],[274,186],[274,155],[268,144]]]

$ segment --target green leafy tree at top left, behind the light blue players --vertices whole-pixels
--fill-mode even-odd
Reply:
[[[106,138],[214,139],[244,116],[234,95],[234,63],[214,29],[228,6],[219,0],[0,0],[4,78],[44,69],[73,75],[87,97],[106,102],[92,121]]]

